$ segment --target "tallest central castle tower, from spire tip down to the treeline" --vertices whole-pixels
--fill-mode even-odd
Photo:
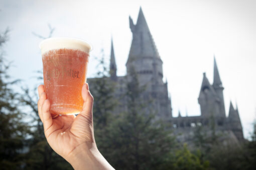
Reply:
[[[167,120],[172,116],[171,99],[168,96],[167,82],[163,82],[163,61],[159,56],[156,44],[151,35],[146,18],[140,7],[137,23],[129,17],[133,40],[126,62],[127,78],[137,73],[140,85],[145,85],[144,98],[152,98],[149,111]]]

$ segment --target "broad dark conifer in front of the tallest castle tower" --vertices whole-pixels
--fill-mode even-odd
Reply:
[[[119,113],[107,127],[104,156],[116,169],[159,169],[175,145],[163,123],[145,112],[150,102],[142,98],[144,90],[136,72],[131,72],[124,96],[128,110]]]

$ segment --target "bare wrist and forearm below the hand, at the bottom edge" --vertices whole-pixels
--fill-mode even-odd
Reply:
[[[75,170],[114,169],[98,151],[96,144],[82,144],[67,159]]]

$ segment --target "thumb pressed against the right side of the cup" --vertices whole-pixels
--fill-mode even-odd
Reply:
[[[92,118],[93,97],[89,91],[88,83],[83,84],[82,97],[83,97],[83,110],[81,111],[80,114],[83,114],[86,117],[89,116]]]

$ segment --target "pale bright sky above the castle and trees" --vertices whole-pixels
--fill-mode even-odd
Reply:
[[[32,32],[87,40],[88,77],[96,74],[96,57],[104,50],[109,62],[113,38],[117,75],[125,75],[132,42],[129,16],[137,22],[140,6],[163,60],[173,116],[199,115],[203,72],[213,81],[215,55],[224,86],[226,114],[230,100],[238,106],[245,137],[256,117],[256,1],[255,0],[0,0],[0,31],[10,28],[4,46],[13,61],[10,74],[29,86],[42,69]]]

